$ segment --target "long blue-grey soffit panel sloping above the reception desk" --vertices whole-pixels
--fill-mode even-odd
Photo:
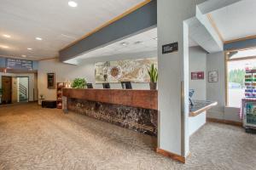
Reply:
[[[147,30],[157,25],[157,5],[156,0],[147,3],[142,8],[138,8],[131,14],[126,15],[102,28],[100,31],[85,37],[73,44],[73,46],[60,51],[60,60],[73,59],[80,54],[102,47],[112,42],[116,42],[124,37],[129,37],[138,32]]]

